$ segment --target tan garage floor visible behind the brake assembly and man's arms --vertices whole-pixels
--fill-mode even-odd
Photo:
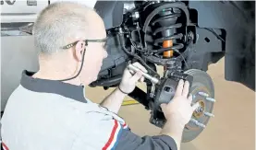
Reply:
[[[208,73],[213,78],[215,98],[213,113],[205,130],[192,142],[182,144],[181,150],[254,150],[255,94],[249,88],[224,78],[224,59],[211,64]],[[144,89],[143,85],[140,85]],[[86,94],[100,102],[111,89],[87,88]],[[130,98],[126,98],[130,99]],[[123,106],[119,111],[134,133],[155,135],[160,129],[149,123],[149,111],[140,104]]]

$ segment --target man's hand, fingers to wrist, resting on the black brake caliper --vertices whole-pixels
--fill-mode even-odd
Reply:
[[[184,84],[180,80],[174,98],[168,104],[162,104],[161,108],[166,120],[177,120],[181,126],[185,126],[191,119],[192,113],[199,107],[199,103],[191,106],[192,96],[189,95],[189,82]]]

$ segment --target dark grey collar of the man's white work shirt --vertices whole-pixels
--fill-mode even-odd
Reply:
[[[24,70],[22,72],[20,85],[34,92],[54,93],[80,102],[87,102],[86,98],[84,98],[83,86],[75,86],[61,81],[31,77],[31,75],[34,74],[35,72]]]

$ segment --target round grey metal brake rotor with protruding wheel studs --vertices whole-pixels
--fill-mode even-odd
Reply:
[[[204,112],[210,114],[213,112],[213,101],[211,100],[214,98],[213,80],[210,75],[197,69],[190,69],[185,74],[193,76],[193,83],[190,88],[190,94],[193,96],[192,103],[199,102],[201,106],[198,110],[194,111],[191,119],[199,121],[206,126],[210,120],[210,116],[205,115]],[[182,142],[187,143],[192,141],[203,129],[197,123],[189,121],[183,131]]]

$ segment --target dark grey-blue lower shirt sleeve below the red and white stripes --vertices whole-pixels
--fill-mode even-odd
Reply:
[[[140,137],[129,130],[122,130],[116,143],[116,150],[177,150],[177,144],[170,136]]]

